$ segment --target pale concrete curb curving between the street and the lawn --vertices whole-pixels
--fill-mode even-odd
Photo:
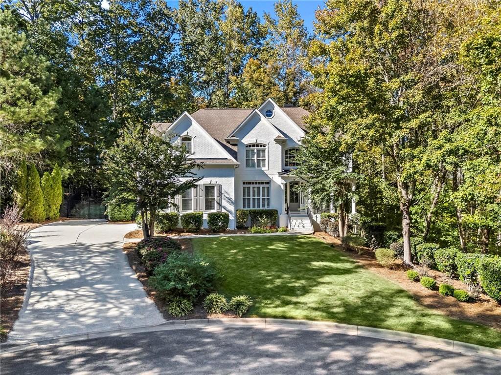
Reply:
[[[422,334],[394,331],[390,329],[372,328],[360,325],[334,323],[328,321],[271,319],[271,318],[225,318],[225,319],[185,319],[167,320],[158,325],[145,325],[134,328],[123,328],[101,332],[87,332],[83,334],[56,337],[53,339],[27,341],[19,344],[3,344],[2,351],[6,353],[23,351],[44,345],[59,344],[71,341],[81,341],[92,338],[121,336],[134,333],[156,332],[173,329],[192,329],[210,327],[247,327],[255,329],[302,329],[322,332],[346,334],[360,337],[380,338],[388,341],[398,341],[425,348],[447,350],[465,355],[478,356],[501,361],[501,349],[469,344],[466,342],[449,340]]]

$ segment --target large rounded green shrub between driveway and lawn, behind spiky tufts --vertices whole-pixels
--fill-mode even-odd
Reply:
[[[196,301],[215,288],[217,274],[210,263],[187,252],[173,252],[153,271],[149,285],[160,297]]]

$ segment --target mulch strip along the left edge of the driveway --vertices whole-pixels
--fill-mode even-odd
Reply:
[[[14,286],[5,295],[2,293],[0,303],[2,304],[0,323],[2,324],[2,334],[0,342],[7,340],[7,335],[11,331],[14,322],[17,320],[19,311],[23,306],[26,283],[30,275],[30,255],[28,251],[18,255],[13,275]]]

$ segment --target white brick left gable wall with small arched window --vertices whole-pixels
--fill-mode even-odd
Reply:
[[[217,146],[217,142],[186,115],[170,131],[176,134],[172,139],[173,142],[179,139],[179,135],[191,136],[194,157],[228,158],[228,154]]]

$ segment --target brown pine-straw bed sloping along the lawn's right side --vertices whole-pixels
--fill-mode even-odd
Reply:
[[[333,247],[341,249],[339,239],[324,232],[316,232],[315,237],[331,244]],[[401,262],[396,263],[393,269],[382,267],[374,256],[374,251],[370,248],[362,248],[357,252],[344,251],[353,259],[357,260],[364,268],[392,280],[407,290],[423,306],[438,310],[439,312],[461,320],[481,323],[501,330],[501,305],[488,295],[480,293],[477,300],[473,302],[459,302],[452,296],[443,296],[437,290],[429,290],[419,282],[411,281],[407,278],[406,268]],[[424,266],[416,266],[416,270],[421,275],[428,275],[440,283],[447,283],[458,289],[468,290],[468,287],[461,281],[451,279],[442,272]]]

